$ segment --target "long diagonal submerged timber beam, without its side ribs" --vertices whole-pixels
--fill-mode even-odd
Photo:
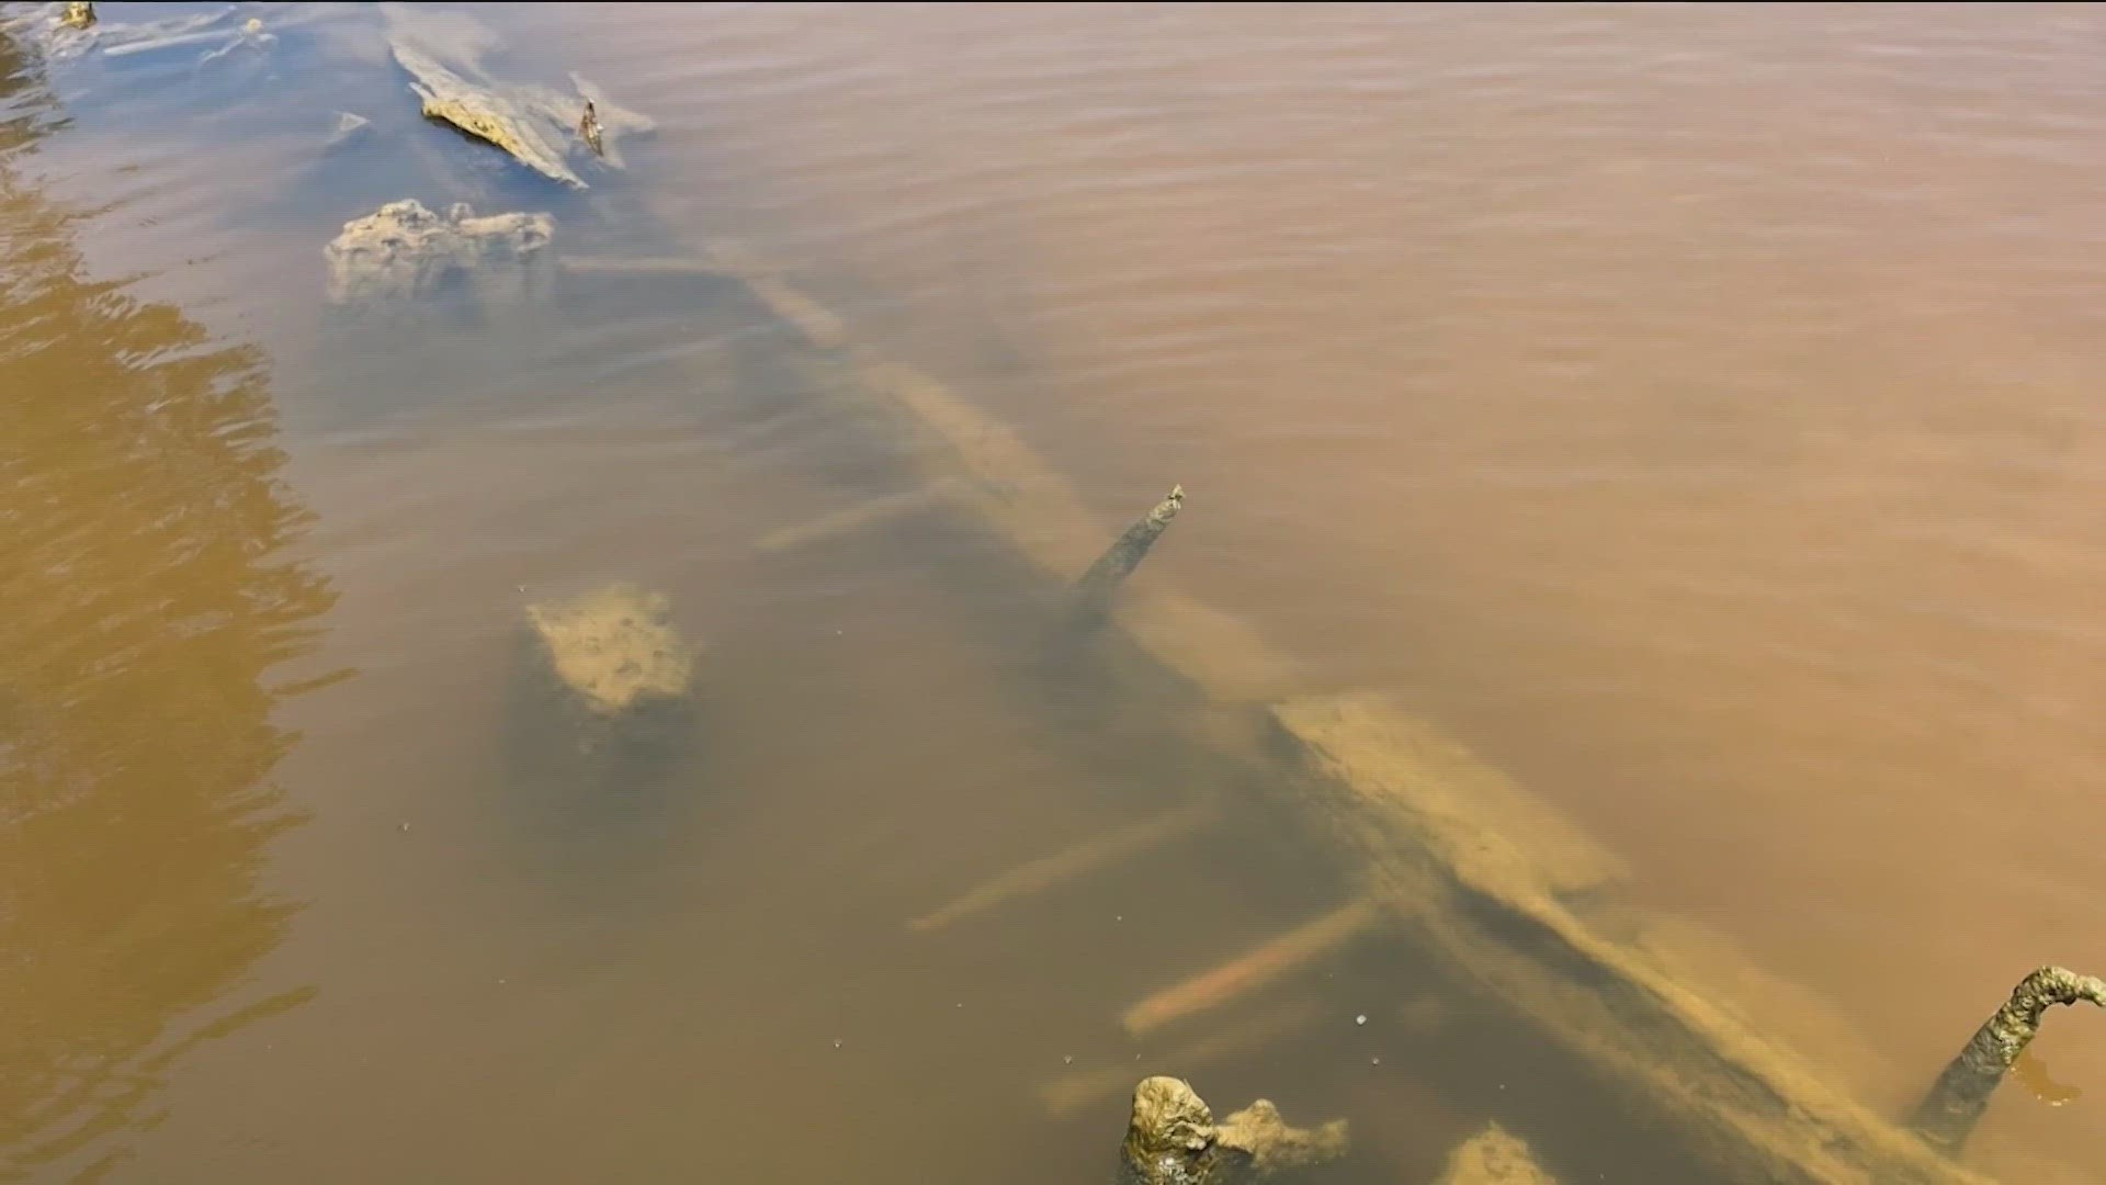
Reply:
[[[642,213],[674,224],[649,205]],[[729,242],[689,247],[908,436],[899,455],[916,477],[941,485],[948,506],[1026,571],[1053,588],[1089,571],[1101,525],[1013,430],[855,342],[775,268]],[[1160,523],[1148,542],[1154,533]],[[1104,624],[1087,645],[1114,694],[1163,702],[1163,689],[1177,687],[1203,706],[1165,713],[1165,744],[1274,761],[1257,780],[1358,871],[1371,930],[1409,943],[1457,991],[1563,1050],[1685,1145],[1706,1179],[1986,1181],[1681,980],[1643,938],[1624,936],[1628,917],[1605,921],[1617,862],[1434,725],[1379,696],[1302,694],[1291,664],[1247,624],[1160,582],[1106,597]]]

